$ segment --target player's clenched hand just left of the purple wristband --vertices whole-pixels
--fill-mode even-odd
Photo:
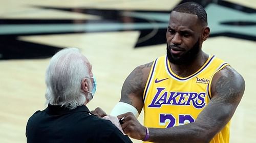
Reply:
[[[146,136],[146,128],[140,124],[137,118],[132,112],[127,112],[117,116],[118,119],[122,120],[123,132],[134,139],[142,140]]]

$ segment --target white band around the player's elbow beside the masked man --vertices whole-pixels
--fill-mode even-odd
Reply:
[[[118,116],[126,112],[132,112],[136,118],[139,117],[138,110],[133,105],[124,102],[118,102],[110,112],[110,115]]]

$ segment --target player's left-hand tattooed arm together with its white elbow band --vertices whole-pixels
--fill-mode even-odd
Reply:
[[[136,67],[125,79],[121,99],[111,111],[111,115],[118,116],[130,111],[138,117],[143,107],[143,92],[152,64],[153,62]]]

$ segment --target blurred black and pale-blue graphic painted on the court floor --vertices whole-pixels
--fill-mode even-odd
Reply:
[[[188,1],[181,1],[181,3]],[[230,14],[241,13],[248,16],[243,20],[214,21],[218,26],[226,25],[239,26],[241,31],[246,26],[256,26],[253,21],[256,14],[255,9],[232,4],[226,1],[194,1],[201,4],[206,11],[210,8],[221,8],[229,10]],[[213,7],[212,7],[213,6]],[[56,51],[64,47],[55,47],[45,44],[20,41],[20,36],[39,36],[74,33],[94,33],[94,32],[117,32],[117,31],[139,31],[140,36],[134,48],[145,48],[150,45],[164,44],[166,27],[168,24],[169,11],[126,11],[92,8],[58,8],[31,6],[39,9],[53,9],[66,12],[78,12],[100,16],[100,20],[61,20],[61,19],[0,19],[0,60],[9,59],[44,59],[51,57]],[[210,9],[211,10],[211,9]],[[209,10],[209,11],[210,11]],[[154,13],[154,15],[152,15]],[[207,11],[208,15],[209,12]],[[223,13],[225,15],[225,13]],[[250,20],[251,19],[251,20]],[[42,25],[41,28],[35,28]],[[60,27],[59,30],[49,31],[52,26]],[[112,26],[111,26],[112,25]],[[79,27],[74,30],[74,26]],[[20,29],[19,29],[20,27]],[[33,28],[34,27],[34,28]],[[17,28],[17,31],[13,31]],[[34,29],[34,30],[32,30]],[[1,33],[2,31],[2,33]],[[227,36],[246,40],[256,41],[256,35],[239,31],[214,31],[210,37]]]

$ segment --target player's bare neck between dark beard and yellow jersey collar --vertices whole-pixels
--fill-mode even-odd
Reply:
[[[202,51],[198,54],[197,58],[191,64],[175,65],[170,63],[170,67],[172,68],[172,71],[180,77],[187,77],[198,71],[208,60],[208,58],[209,55]]]

